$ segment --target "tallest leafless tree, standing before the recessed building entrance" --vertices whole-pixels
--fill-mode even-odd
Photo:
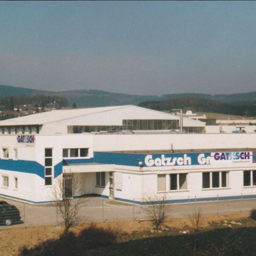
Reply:
[[[61,213],[65,226],[64,235],[78,223],[78,212],[85,202],[82,193],[81,180],[74,173],[63,173],[54,182],[51,199],[57,212]]]

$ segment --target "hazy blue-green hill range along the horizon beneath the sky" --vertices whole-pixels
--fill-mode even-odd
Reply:
[[[8,85],[0,85],[0,98],[10,96],[35,96],[35,95],[57,95],[67,98],[70,106],[75,102],[77,107],[101,107],[111,105],[138,105],[144,101],[160,101],[173,98],[206,98],[221,103],[232,102],[234,104],[256,104],[256,92],[236,94],[201,94],[201,93],[179,93],[156,95],[132,95],[115,92],[104,92],[100,90],[70,90],[52,92],[43,90],[27,89]]]

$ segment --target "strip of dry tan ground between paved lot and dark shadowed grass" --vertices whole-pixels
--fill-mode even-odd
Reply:
[[[230,214],[221,216],[205,216],[203,217],[203,227],[207,228],[211,222],[221,222],[223,220],[241,220],[248,218],[249,214]],[[152,229],[151,221],[116,221],[116,222],[97,222],[97,226],[104,228],[116,228],[120,232],[131,234],[135,231],[144,232]],[[90,223],[83,223],[79,226],[73,227],[70,230],[79,234],[81,230],[89,227]],[[164,226],[179,229],[183,227],[191,227],[189,218],[183,219],[168,219]],[[50,238],[58,238],[63,232],[63,227],[60,226],[40,226],[40,227],[9,227],[0,229],[0,252],[2,256],[17,256],[19,249],[23,246],[32,248],[38,243]]]

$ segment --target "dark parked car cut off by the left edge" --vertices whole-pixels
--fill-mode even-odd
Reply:
[[[4,201],[1,201],[4,202]],[[0,223],[9,226],[13,223],[20,223],[20,211],[16,206],[0,202]],[[5,204],[6,203],[6,204]]]

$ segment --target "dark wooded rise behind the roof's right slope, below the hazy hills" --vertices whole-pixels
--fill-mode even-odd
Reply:
[[[205,98],[173,98],[160,101],[144,101],[138,106],[155,110],[172,111],[174,108],[195,108],[197,112],[211,112],[239,116],[256,116],[256,104],[242,105],[221,103]]]

